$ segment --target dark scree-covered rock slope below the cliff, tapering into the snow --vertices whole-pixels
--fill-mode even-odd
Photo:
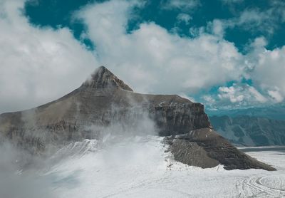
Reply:
[[[262,168],[275,170],[249,155],[240,152],[210,128],[192,130],[187,134],[169,138],[175,160],[199,167],[224,165],[226,170]],[[193,157],[190,157],[193,156]]]

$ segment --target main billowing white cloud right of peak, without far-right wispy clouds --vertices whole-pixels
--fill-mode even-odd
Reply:
[[[135,90],[194,93],[240,78],[242,55],[218,36],[182,38],[154,23],[125,33],[132,6],[128,1],[108,1],[87,6],[77,16],[88,26],[100,63]]]

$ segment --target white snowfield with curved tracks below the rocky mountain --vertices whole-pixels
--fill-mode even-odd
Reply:
[[[64,160],[42,171],[41,177],[61,198],[285,197],[285,152],[247,152],[276,167],[275,172],[202,169],[175,162],[162,140],[147,136],[105,145],[76,142],[56,153],[53,159]]]

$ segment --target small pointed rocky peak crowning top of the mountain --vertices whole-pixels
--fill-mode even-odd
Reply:
[[[97,68],[91,75],[91,78],[83,83],[83,86],[92,88],[121,88],[123,90],[133,91],[123,80],[120,80],[104,66]]]

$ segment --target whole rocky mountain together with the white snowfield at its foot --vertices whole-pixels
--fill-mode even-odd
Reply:
[[[0,140],[0,197],[285,196],[282,151],[244,153],[203,105],[133,93],[103,67],[63,98],[0,115]]]

